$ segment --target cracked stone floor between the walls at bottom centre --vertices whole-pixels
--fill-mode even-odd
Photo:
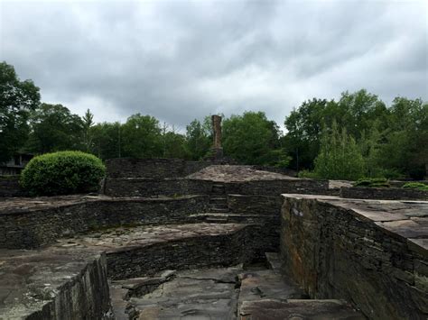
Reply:
[[[364,319],[344,301],[309,299],[264,266],[165,270],[112,281],[110,292],[120,320]]]

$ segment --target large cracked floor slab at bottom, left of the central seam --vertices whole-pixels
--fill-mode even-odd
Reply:
[[[130,303],[140,320],[158,319],[235,319],[237,312],[237,274],[240,267],[178,272]]]

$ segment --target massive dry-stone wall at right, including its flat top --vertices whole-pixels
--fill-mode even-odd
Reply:
[[[311,297],[344,298],[370,319],[426,319],[427,208],[284,195],[284,270]]]

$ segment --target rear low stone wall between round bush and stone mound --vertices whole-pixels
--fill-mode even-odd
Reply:
[[[215,161],[181,159],[110,159],[106,160],[108,178],[179,178],[221,164]]]

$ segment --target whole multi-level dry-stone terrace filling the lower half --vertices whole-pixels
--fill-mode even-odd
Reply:
[[[109,160],[105,195],[0,200],[0,319],[426,318],[427,202],[212,164]]]

